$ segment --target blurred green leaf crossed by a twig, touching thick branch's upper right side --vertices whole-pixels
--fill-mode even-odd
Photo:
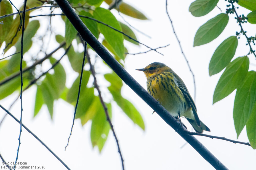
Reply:
[[[103,2],[103,1],[102,1]],[[88,16],[94,18],[89,12],[82,10],[79,15]],[[80,17],[82,22],[86,25],[86,27],[92,32],[92,34],[98,39],[99,38],[99,30],[96,21],[93,21],[88,18]]]

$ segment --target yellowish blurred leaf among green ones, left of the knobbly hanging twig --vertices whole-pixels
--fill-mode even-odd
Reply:
[[[82,126],[94,117],[100,107],[101,103],[99,97],[94,96],[90,107],[87,109],[86,113],[80,117]]]

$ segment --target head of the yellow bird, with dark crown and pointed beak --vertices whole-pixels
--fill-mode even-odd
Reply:
[[[146,77],[149,78],[151,76],[155,76],[165,71],[171,71],[172,69],[170,69],[170,67],[166,66],[161,62],[153,62],[145,68],[136,69],[136,70],[143,71]]]

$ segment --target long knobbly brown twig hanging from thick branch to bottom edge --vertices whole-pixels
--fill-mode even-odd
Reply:
[[[90,70],[91,70],[92,76],[94,78],[94,86],[95,86],[95,88],[97,89],[97,91],[99,93],[100,102],[101,102],[101,104],[102,104],[102,106],[104,108],[104,111],[105,111],[105,114],[106,114],[106,117],[107,117],[107,121],[109,122],[111,130],[112,130],[113,135],[115,137],[116,145],[118,147],[118,153],[120,154],[120,158],[121,158],[121,162],[122,162],[122,168],[124,170],[124,159],[123,159],[123,156],[122,156],[122,153],[121,153],[119,142],[118,142],[118,139],[117,139],[115,131],[114,131],[114,126],[113,126],[113,124],[112,124],[112,122],[110,120],[110,117],[109,117],[108,108],[107,108],[106,104],[104,103],[104,101],[102,99],[101,91],[100,91],[100,88],[99,88],[99,86],[97,84],[97,80],[96,80],[96,77],[95,77],[95,70],[94,70],[94,67],[92,66],[91,59],[90,59],[89,55],[87,55],[87,60],[88,60],[88,63],[90,64]]]

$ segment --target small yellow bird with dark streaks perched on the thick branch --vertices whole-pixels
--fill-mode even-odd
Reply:
[[[147,91],[162,104],[175,118],[185,117],[196,132],[210,129],[202,123],[197,115],[194,100],[182,79],[161,62],[153,62],[143,71],[147,77]]]

